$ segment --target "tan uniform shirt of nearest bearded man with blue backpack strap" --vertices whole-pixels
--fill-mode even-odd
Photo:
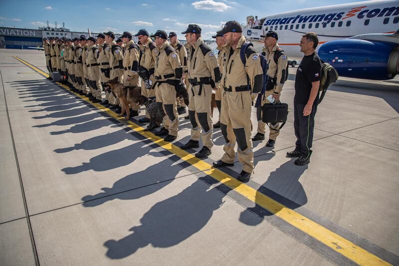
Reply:
[[[248,47],[245,54],[246,64],[244,65],[240,58],[241,46],[244,43],[245,37],[241,36],[235,50],[227,47],[221,84],[225,88],[231,87],[235,91],[236,87],[247,85],[248,76],[252,93],[260,93],[263,85],[263,71],[260,66],[259,55],[251,47]]]

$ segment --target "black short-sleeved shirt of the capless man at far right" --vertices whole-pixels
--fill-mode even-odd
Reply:
[[[316,52],[302,58],[295,77],[294,103],[307,104],[312,90],[312,82],[319,81],[321,77],[321,61]],[[319,94],[314,103],[319,102]]]

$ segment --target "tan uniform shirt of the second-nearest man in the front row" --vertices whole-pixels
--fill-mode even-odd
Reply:
[[[217,58],[209,46],[203,43],[202,38],[198,38],[196,43],[191,47],[190,51],[190,68],[189,79],[211,77],[213,82],[212,88],[219,87],[220,82],[220,69],[217,63]]]

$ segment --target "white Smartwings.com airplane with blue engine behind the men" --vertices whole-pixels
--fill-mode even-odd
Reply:
[[[387,80],[399,72],[399,0],[370,0],[299,9],[266,16],[260,26],[242,24],[243,35],[261,52],[260,35],[273,30],[288,57],[302,57],[299,41],[316,32],[318,54],[340,76]],[[321,44],[321,45],[320,45]]]

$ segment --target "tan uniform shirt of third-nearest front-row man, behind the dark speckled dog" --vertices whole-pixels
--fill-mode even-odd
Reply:
[[[162,47],[159,48],[159,53],[155,61],[155,76],[157,80],[166,79],[181,79],[183,75],[183,67],[180,63],[178,53],[169,44],[169,41],[165,41]],[[165,75],[171,75],[171,77],[165,77]]]

